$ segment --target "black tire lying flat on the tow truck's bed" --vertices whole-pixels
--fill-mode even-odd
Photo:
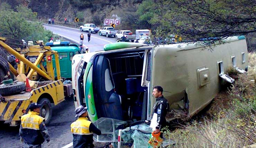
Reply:
[[[3,96],[16,94],[26,90],[26,84],[24,82],[13,82],[11,84],[0,85],[0,94]]]

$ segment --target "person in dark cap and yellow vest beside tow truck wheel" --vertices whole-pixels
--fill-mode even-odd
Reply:
[[[31,103],[30,112],[21,116],[19,136],[24,142],[23,148],[41,148],[41,144],[46,140],[50,141],[48,130],[44,124],[45,119],[39,116],[41,104]]]

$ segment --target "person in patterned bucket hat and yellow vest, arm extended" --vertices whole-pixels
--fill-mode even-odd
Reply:
[[[101,131],[89,121],[87,107],[80,105],[75,113],[78,119],[71,124],[73,148],[93,148],[93,133],[101,135]]]

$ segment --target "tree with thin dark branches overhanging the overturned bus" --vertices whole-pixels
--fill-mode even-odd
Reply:
[[[207,41],[256,32],[255,1],[154,0],[151,7],[149,23],[164,38],[179,34],[186,41]]]

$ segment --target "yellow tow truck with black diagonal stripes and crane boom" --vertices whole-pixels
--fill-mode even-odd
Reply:
[[[0,122],[10,121],[10,126],[19,125],[20,117],[29,111],[29,104],[35,102],[43,105],[40,116],[46,119],[45,124],[49,124],[52,117],[52,104],[57,105],[64,101],[66,96],[73,94],[72,84],[63,84],[58,53],[52,51],[50,46],[44,46],[43,44],[14,50],[4,43],[5,41],[5,38],[0,37],[0,46],[9,54],[14,55],[17,62],[19,62],[18,70],[8,63],[11,73],[15,76],[25,74],[29,80],[36,80],[39,76],[40,80],[36,88],[31,90],[27,88],[26,92],[16,94],[8,92],[8,90],[12,90],[13,85],[16,85],[16,81],[14,81],[15,83],[1,85],[0,89],[5,89],[8,95],[2,95],[0,98]],[[29,56],[34,58],[33,62],[30,59],[28,60],[27,57]],[[54,76],[52,56],[55,56],[56,77]],[[46,66],[44,66],[45,64]],[[24,86],[19,88],[24,88]]]

